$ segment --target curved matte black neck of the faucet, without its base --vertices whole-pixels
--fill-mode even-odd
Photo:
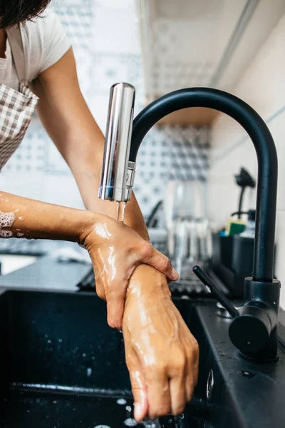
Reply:
[[[254,280],[271,282],[274,267],[274,237],[277,193],[277,155],[266,123],[247,103],[224,91],[185,88],[167,93],[145,107],[133,121],[130,161],[135,162],[140,143],[161,118],[189,107],[207,107],[234,118],[249,134],[257,152],[257,217],[254,240]]]

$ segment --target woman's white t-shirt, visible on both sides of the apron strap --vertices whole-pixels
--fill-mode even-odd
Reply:
[[[22,25],[21,34],[29,82],[53,66],[71,47],[58,17],[48,9],[38,18]],[[18,91],[19,80],[8,39],[5,56],[0,58],[0,83]]]

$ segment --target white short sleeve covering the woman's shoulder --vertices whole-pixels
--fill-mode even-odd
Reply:
[[[22,24],[21,34],[29,81],[53,66],[71,46],[60,19],[51,9]]]

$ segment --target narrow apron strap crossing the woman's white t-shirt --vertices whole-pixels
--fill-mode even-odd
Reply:
[[[6,33],[11,46],[11,54],[16,67],[16,72],[18,74],[19,82],[21,83],[21,81],[26,81],[26,63],[20,24],[12,26],[6,31]]]

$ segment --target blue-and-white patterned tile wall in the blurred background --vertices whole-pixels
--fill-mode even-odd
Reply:
[[[51,6],[71,39],[81,90],[103,132],[113,83],[127,81],[135,86],[138,113],[145,99],[135,1],[53,0]],[[147,135],[138,156],[135,182],[145,215],[163,198],[169,176],[205,180],[208,137],[207,129],[191,127],[155,128]],[[70,170],[38,118],[33,118],[26,138],[0,178],[1,188],[8,192],[83,207]]]

